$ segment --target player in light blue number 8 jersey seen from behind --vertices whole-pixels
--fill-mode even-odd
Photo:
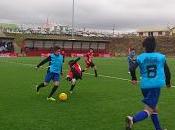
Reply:
[[[139,66],[142,76],[140,87],[144,97],[142,102],[145,104],[145,108],[134,116],[126,117],[126,130],[131,130],[133,124],[143,121],[149,116],[155,130],[163,130],[159,123],[157,104],[161,88],[165,85],[168,88],[171,87],[171,74],[165,55],[155,52],[156,41],[153,36],[147,37],[143,41],[143,47],[145,52],[137,57],[135,65],[130,68],[130,72],[132,83],[136,84],[135,70]]]

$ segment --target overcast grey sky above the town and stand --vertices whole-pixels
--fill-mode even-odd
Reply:
[[[0,22],[71,24],[73,0],[0,0]],[[75,25],[99,29],[175,25],[175,0],[75,0]]]

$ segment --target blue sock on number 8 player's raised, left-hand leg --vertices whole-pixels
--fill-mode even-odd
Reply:
[[[142,121],[148,117],[148,113],[146,111],[141,111],[137,113],[135,116],[133,116],[133,123]]]

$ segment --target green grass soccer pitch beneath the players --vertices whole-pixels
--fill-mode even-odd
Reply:
[[[95,59],[98,73],[105,76],[84,74],[66,102],[46,100],[52,84],[36,94],[35,85],[43,81],[47,66],[36,71],[34,66],[40,61],[41,58],[0,58],[0,130],[125,130],[125,117],[143,108],[138,85],[109,77],[130,79],[126,58]],[[67,61],[56,98],[70,89],[65,80]],[[174,59],[169,58],[168,64],[175,84]],[[175,88],[162,90],[159,111],[162,126],[174,130]],[[147,119],[134,128],[153,130],[153,125]]]

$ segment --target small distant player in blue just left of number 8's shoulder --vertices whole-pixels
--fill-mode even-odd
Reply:
[[[135,63],[135,49],[134,48],[130,48],[129,49],[129,53],[128,53],[128,69],[130,70],[130,67]],[[130,71],[128,71],[128,74],[130,74]]]

